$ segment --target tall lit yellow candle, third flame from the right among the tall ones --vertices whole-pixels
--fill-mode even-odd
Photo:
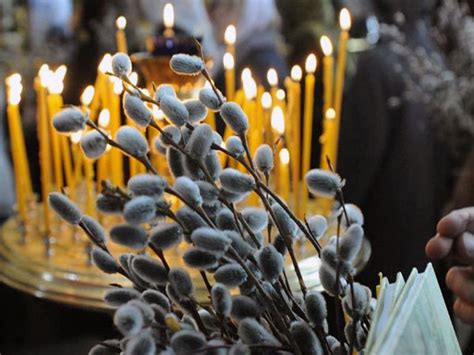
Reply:
[[[313,138],[313,108],[314,108],[314,84],[317,60],[314,54],[310,54],[306,58],[305,70],[305,95],[304,95],[304,126],[303,126],[303,162],[302,162],[302,176],[304,176],[311,168],[311,149]],[[300,217],[308,210],[308,188],[306,184],[303,186],[303,203],[301,209],[297,212]]]

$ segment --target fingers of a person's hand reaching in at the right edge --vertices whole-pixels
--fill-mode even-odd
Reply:
[[[437,234],[426,244],[433,259],[448,256],[463,265],[452,267],[446,285],[458,296],[454,313],[466,323],[474,323],[474,207],[456,210],[443,217]]]

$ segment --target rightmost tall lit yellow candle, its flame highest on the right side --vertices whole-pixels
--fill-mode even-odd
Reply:
[[[336,116],[334,118],[333,137],[330,138],[331,146],[329,148],[329,159],[336,169],[337,150],[339,146],[339,126],[341,122],[342,97],[344,93],[344,76],[346,72],[346,56],[347,41],[349,40],[349,30],[351,28],[351,15],[347,9],[342,9],[339,14],[339,24],[341,26],[341,34],[339,36],[339,49],[337,55],[336,84],[334,88],[334,110]]]

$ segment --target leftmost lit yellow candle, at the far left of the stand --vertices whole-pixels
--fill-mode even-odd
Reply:
[[[13,74],[6,79],[7,85],[7,117],[10,131],[10,145],[13,157],[13,169],[15,172],[16,200],[18,214],[23,223],[28,220],[26,200],[27,194],[32,193],[30,170],[26,156],[25,138],[21,125],[19,104],[21,101],[20,74]]]

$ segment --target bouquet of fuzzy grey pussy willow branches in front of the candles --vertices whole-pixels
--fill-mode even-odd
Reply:
[[[97,209],[123,216],[123,223],[108,233],[66,195],[49,196],[50,207],[90,238],[94,265],[123,275],[129,280],[124,284],[131,285],[112,285],[105,295],[105,302],[116,308],[113,321],[122,338],[105,340],[90,354],[350,354],[363,349],[372,296],[353,281],[363,216],[354,205],[344,204],[344,180],[318,169],[305,176],[312,194],[335,197],[341,204],[337,233],[327,238],[326,218],[298,219],[269,188],[273,149],[264,144],[251,155],[248,118],[214,86],[202,56],[174,55],[170,67],[180,75],[204,76],[209,85],[200,90],[199,99],[182,102],[167,84],[153,94],[144,92],[129,80],[131,62],[122,53],[113,57],[109,74],[123,81],[127,117],[159,132],[153,144],[166,154],[171,178],[158,175],[137,128],[122,126],[112,138],[75,107],[53,119],[63,134],[88,126],[80,141],[88,158],[100,157],[110,145],[147,169],[131,177],[126,188],[102,184]],[[149,104],[163,111],[167,126],[154,121]],[[207,110],[219,112],[232,130],[225,144],[203,123]],[[238,169],[222,167],[220,155]],[[258,206],[237,207],[245,206],[250,193],[259,197]],[[172,199],[182,207],[171,208]],[[321,247],[323,236],[328,241]],[[324,292],[306,287],[294,252],[297,240],[321,258],[314,272],[319,272]],[[115,258],[109,243],[136,253]],[[179,244],[186,245],[180,254],[183,267],[166,260],[165,251]],[[298,287],[289,286],[285,259]],[[196,298],[192,269],[207,288],[205,302]],[[335,305],[336,322],[328,319],[327,300]],[[329,334],[328,324],[333,323]]]

